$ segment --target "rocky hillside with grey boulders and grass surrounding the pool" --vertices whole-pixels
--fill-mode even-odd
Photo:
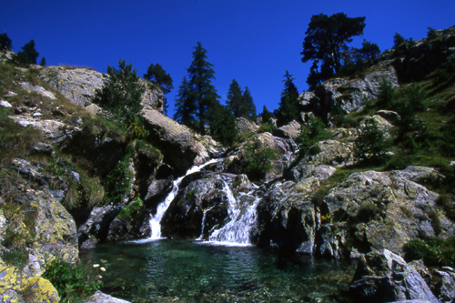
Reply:
[[[360,258],[354,299],[450,302],[453,270],[431,282],[406,261],[455,266],[454,47],[453,27],[399,45],[362,75],[302,93],[299,121],[270,133],[239,118],[233,146],[164,116],[146,80],[137,138],[93,103],[100,73],[0,63],[0,298],[57,301],[46,267],[149,237],[173,181],[217,158],[181,180],[162,236]]]

